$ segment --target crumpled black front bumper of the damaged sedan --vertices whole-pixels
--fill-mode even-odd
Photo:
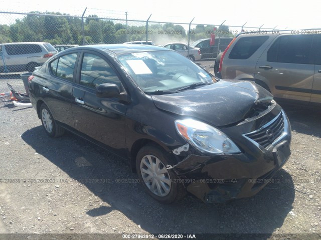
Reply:
[[[178,164],[167,168],[179,176],[188,192],[206,203],[252,196],[267,183],[277,182],[272,177],[290,156],[291,127],[283,110],[280,114],[284,119],[282,134],[268,147],[245,136],[243,153],[189,154]],[[264,127],[270,129],[269,124]],[[180,151],[187,149],[185,146]]]

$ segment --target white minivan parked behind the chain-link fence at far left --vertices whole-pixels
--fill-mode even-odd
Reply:
[[[57,50],[49,42],[11,42],[0,44],[0,72],[33,71]]]

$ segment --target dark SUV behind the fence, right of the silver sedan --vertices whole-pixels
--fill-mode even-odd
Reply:
[[[198,47],[201,50],[202,59],[215,58],[217,54],[224,51],[225,48],[233,40],[233,37],[216,37],[214,45],[210,45],[211,38],[199,39],[191,44],[193,47]]]

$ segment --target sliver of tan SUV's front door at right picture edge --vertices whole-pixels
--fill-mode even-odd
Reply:
[[[311,91],[311,104],[321,103],[321,35],[313,39],[313,52],[315,53],[314,78]]]

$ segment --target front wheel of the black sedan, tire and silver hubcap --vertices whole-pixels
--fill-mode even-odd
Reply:
[[[153,145],[143,146],[136,156],[140,182],[149,195],[162,203],[172,203],[185,196],[184,185],[166,168],[171,162],[168,152]]]

